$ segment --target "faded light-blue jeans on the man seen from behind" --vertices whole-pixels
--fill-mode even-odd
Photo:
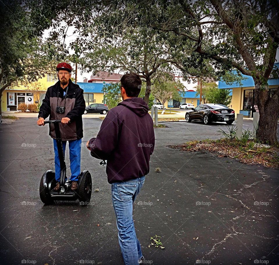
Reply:
[[[144,180],[145,176],[111,184],[118,241],[125,265],[137,265],[143,257],[133,222],[133,202],[140,192]]]

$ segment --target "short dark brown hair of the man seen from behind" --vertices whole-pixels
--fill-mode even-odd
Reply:
[[[140,76],[134,73],[125,74],[120,79],[121,86],[124,87],[127,97],[137,98],[142,88]]]

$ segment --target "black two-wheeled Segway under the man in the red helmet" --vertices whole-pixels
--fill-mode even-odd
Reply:
[[[61,120],[45,121],[46,123],[54,123],[56,143],[60,161],[60,188],[58,191],[54,190],[56,186],[55,172],[47,170],[44,172],[40,182],[40,198],[44,204],[52,204],[54,201],[75,201],[79,200],[80,204],[85,206],[90,202],[92,193],[92,178],[88,170],[82,171],[78,176],[78,188],[74,191],[71,190],[71,181],[66,179],[66,164],[65,155],[63,153],[62,139],[59,129]]]

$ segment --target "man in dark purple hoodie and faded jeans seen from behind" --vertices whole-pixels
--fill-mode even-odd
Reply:
[[[107,160],[119,245],[125,265],[135,265],[143,263],[144,257],[135,233],[133,202],[149,172],[155,135],[148,105],[137,98],[142,85],[140,76],[126,74],[120,82],[123,101],[110,109],[87,148],[93,157]]]

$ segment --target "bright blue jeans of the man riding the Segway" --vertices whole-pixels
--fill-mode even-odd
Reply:
[[[62,141],[63,153],[65,155],[67,141]],[[56,139],[53,139],[54,146],[54,160],[55,160],[55,180],[60,180],[60,162],[58,156],[58,149]],[[81,139],[69,141],[70,150],[70,168],[71,168],[71,179],[72,181],[78,181],[78,176],[81,173]],[[66,181],[67,179],[65,179]]]

